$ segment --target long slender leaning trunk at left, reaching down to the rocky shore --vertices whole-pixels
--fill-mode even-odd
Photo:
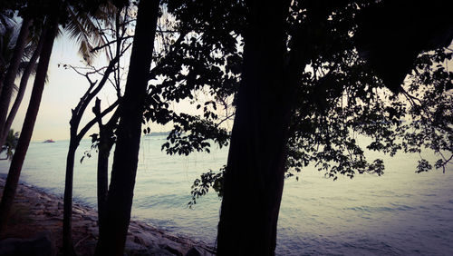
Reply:
[[[43,51],[40,55],[39,64],[34,78],[34,86],[32,91],[32,97],[28,105],[27,113],[25,114],[24,125],[22,127],[21,136],[17,147],[15,149],[13,161],[8,172],[8,177],[5,183],[5,190],[0,203],[0,232],[5,231],[6,222],[8,221],[9,212],[13,205],[15,190],[17,188],[17,182],[19,182],[19,176],[21,174],[22,165],[24,163],[25,154],[32,138],[34,123],[38,114],[39,105],[41,103],[41,97],[43,95],[45,76],[47,74],[47,68],[49,66],[49,60],[52,54],[53,41],[58,28],[58,10],[60,2],[56,5],[54,10],[49,29],[46,31],[45,41],[43,44]]]

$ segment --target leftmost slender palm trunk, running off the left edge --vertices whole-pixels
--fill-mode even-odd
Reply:
[[[8,114],[9,103],[11,102],[11,95],[13,93],[13,84],[17,75],[17,70],[19,69],[19,64],[22,60],[22,56],[24,55],[26,39],[30,32],[30,25],[32,25],[32,19],[24,17],[21,31],[19,32],[15,42],[13,57],[10,61],[8,70],[6,71],[3,86],[0,88],[0,139],[2,139],[3,134],[5,133],[5,121]],[[2,147],[5,142],[2,140],[0,143],[0,147]]]

